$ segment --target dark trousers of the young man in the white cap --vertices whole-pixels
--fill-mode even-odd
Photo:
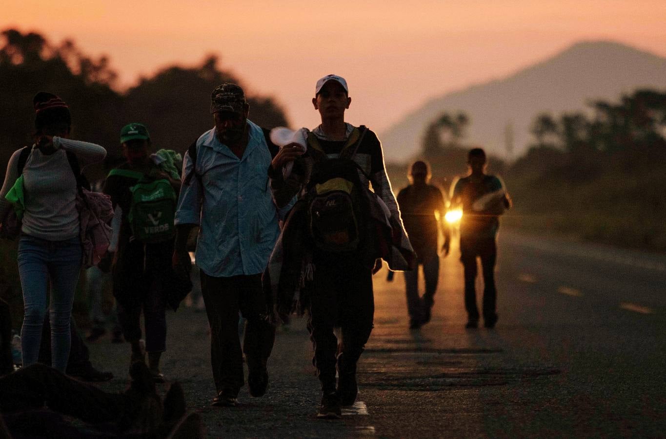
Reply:
[[[355,258],[315,260],[315,264],[308,319],[312,364],[322,391],[332,392],[336,390],[336,364],[340,374],[356,373],[356,363],[372,332],[372,270],[359,266]],[[342,335],[339,344],[335,327]]]

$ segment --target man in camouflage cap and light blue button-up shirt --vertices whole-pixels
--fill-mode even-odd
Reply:
[[[190,146],[176,212],[173,265],[187,270],[186,243],[200,226],[196,265],[211,328],[211,361],[217,396],[214,406],[235,406],[244,384],[238,340],[238,312],[247,319],[243,352],[250,395],[268,386],[266,362],[275,328],[266,321],[261,276],[280,227],[268,191],[268,167],[278,149],[266,131],[250,122],[243,90],[222,84],[210,97],[215,127]]]

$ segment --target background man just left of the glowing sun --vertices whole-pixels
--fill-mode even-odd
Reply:
[[[410,328],[416,329],[430,322],[440,274],[438,234],[441,230],[444,235],[442,252],[446,256],[449,254],[451,232],[444,220],[446,205],[442,191],[429,184],[429,165],[424,161],[416,161],[410,168],[409,178],[412,184],[398,193],[398,206],[412,248],[416,252],[418,265],[423,266],[426,280],[426,291],[421,298],[418,292],[418,266],[412,271],[405,272]]]

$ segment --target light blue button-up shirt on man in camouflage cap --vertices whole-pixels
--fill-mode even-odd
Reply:
[[[176,224],[200,225],[196,265],[209,276],[264,272],[280,234],[281,211],[268,186],[272,161],[260,127],[248,121],[248,145],[242,159],[220,143],[211,129],[196,141],[196,177],[183,184]],[[192,172],[188,154],[182,180]]]

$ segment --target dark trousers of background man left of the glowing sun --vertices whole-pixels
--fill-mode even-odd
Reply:
[[[437,291],[437,281],[440,276],[440,256],[437,250],[428,252],[428,257],[416,260],[417,264],[414,270],[406,271],[405,274],[405,291],[407,294],[407,311],[412,320],[420,320],[422,318],[423,308],[432,308],[434,303],[435,292]],[[426,291],[423,298],[419,296],[418,292],[418,267],[423,267],[423,276],[425,278]]]

